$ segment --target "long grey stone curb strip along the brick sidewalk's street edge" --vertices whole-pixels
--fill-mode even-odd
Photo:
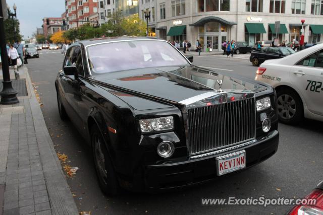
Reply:
[[[48,133],[27,67],[24,67],[24,73],[27,86],[29,85],[30,88],[29,92],[31,92],[29,103],[52,214],[79,214],[61,163],[53,147],[53,142]]]

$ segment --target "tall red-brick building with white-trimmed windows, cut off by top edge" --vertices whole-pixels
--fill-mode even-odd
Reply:
[[[65,0],[67,29],[78,28],[98,13],[98,0]],[[76,22],[78,21],[78,22]]]

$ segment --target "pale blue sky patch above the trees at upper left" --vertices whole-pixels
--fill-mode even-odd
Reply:
[[[14,3],[20,21],[20,34],[24,39],[31,38],[36,27],[41,28],[44,17],[61,17],[65,11],[64,0],[7,0],[12,12]]]

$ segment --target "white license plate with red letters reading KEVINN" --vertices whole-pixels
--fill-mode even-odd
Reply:
[[[225,175],[246,167],[246,151],[216,157],[217,175]]]

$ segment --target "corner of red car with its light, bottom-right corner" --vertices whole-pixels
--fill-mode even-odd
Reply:
[[[315,189],[294,206],[287,214],[321,215],[323,214],[323,181]]]

